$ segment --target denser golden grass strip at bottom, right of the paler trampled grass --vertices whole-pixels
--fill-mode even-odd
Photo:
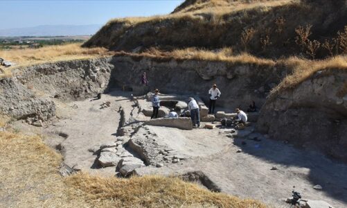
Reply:
[[[76,174],[66,183],[83,190],[90,200],[106,207],[265,207],[255,200],[240,200],[224,193],[212,193],[177,177],[145,176],[130,180]]]

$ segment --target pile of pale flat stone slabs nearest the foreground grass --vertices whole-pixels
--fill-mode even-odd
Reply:
[[[123,143],[124,139],[119,137],[117,141],[101,145],[98,150],[100,152],[98,162],[103,167],[116,166],[116,170],[123,177],[127,177],[132,175],[136,168],[143,167],[145,164],[125,150]]]

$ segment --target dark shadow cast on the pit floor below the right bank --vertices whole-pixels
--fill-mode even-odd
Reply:
[[[264,137],[261,141],[235,138],[233,144],[240,147],[243,153],[265,159],[278,166],[308,168],[308,175],[298,174],[291,177],[305,177],[312,183],[312,187],[320,184],[323,187],[321,191],[328,196],[347,202],[347,164],[335,162],[314,151],[300,150],[291,144]]]

